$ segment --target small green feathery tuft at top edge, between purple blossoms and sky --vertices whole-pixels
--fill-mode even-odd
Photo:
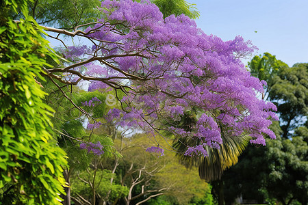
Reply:
[[[200,15],[194,3],[188,3],[184,0],[153,0],[152,3],[157,5],[164,18],[172,14],[175,14],[175,16],[185,14],[192,19],[196,19]]]

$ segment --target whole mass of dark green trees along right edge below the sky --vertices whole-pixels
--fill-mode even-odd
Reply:
[[[280,115],[280,122],[272,124],[277,140],[266,139],[266,147],[249,147],[240,162],[224,173],[229,203],[242,194],[246,199],[257,198],[258,202],[307,204],[307,64],[289,68],[282,61],[279,63],[283,66],[274,72],[271,66],[263,70],[271,74],[266,95],[277,104]],[[270,65],[266,61],[264,64]],[[228,187],[235,189],[231,193]]]

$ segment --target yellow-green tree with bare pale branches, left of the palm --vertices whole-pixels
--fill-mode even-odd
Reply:
[[[122,184],[129,187],[126,204],[142,204],[159,196],[166,195],[174,203],[185,204],[193,197],[203,197],[209,189],[208,184],[198,178],[196,169],[186,169],[175,161],[172,152],[150,154],[142,152],[151,146],[147,136],[137,134],[133,137],[116,140],[117,148],[122,149],[123,159],[118,163],[116,174]],[[166,141],[161,141],[166,145]],[[159,156],[159,158],[157,158]]]

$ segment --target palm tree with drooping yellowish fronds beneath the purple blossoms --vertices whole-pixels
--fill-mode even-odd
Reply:
[[[170,122],[169,122],[170,123]],[[168,124],[169,124],[168,123]],[[191,131],[196,123],[196,110],[187,111],[178,122],[177,128],[183,128],[184,131]],[[172,147],[177,151],[179,163],[185,167],[198,167],[199,176],[206,182],[212,182],[214,193],[218,197],[218,204],[224,204],[223,182],[220,180],[225,169],[238,163],[238,157],[245,150],[251,137],[242,135],[239,137],[229,136],[222,124],[220,124],[222,135],[222,144],[220,149],[205,147],[208,156],[185,156],[185,150],[188,146],[198,146],[201,140],[192,139],[190,137],[180,137],[175,139]]]

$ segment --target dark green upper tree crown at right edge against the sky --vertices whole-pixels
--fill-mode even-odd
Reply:
[[[296,64],[292,68],[281,69],[273,81],[269,98],[277,104],[282,136],[287,138],[292,134],[290,131],[307,120],[308,65]]]

